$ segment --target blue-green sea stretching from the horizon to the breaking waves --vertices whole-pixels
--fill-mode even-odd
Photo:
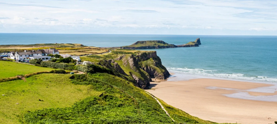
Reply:
[[[200,47],[155,49],[162,64],[178,75],[178,80],[219,78],[277,83],[277,36],[0,33],[0,45],[80,43],[119,47],[141,40],[180,45],[196,38],[201,39]]]

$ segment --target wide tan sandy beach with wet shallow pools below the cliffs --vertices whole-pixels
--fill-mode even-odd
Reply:
[[[276,85],[219,79],[151,84],[149,93],[201,119],[242,124],[277,121]]]

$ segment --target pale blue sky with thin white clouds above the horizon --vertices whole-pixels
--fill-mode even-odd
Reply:
[[[277,35],[277,1],[1,0],[0,33]]]

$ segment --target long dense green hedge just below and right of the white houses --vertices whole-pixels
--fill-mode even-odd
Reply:
[[[74,68],[74,64],[66,64],[66,63],[54,63],[50,61],[41,62],[42,66],[54,68],[54,69],[68,69],[72,70]]]

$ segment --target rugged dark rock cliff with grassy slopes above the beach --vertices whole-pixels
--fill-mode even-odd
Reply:
[[[166,79],[170,76],[156,51],[118,55],[114,59],[102,60],[99,64],[142,89],[149,88],[151,78]]]

